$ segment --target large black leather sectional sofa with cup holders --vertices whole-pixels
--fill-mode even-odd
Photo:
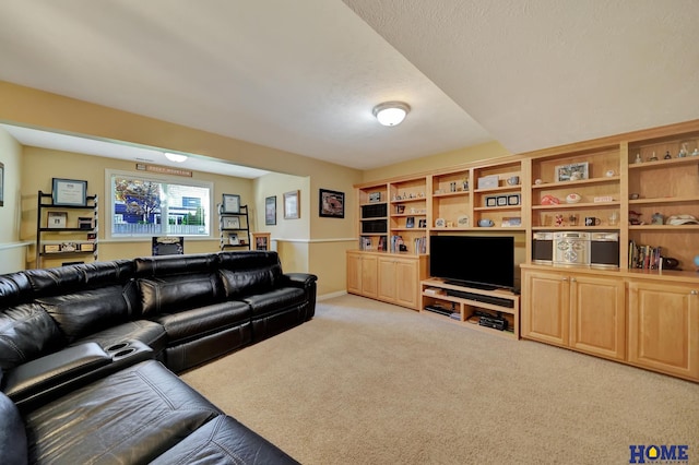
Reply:
[[[295,463],[176,373],[310,320],[316,279],[271,251],[1,275],[2,463]]]

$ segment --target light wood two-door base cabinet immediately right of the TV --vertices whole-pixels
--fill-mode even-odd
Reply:
[[[522,337],[623,360],[624,281],[570,271],[523,273]]]

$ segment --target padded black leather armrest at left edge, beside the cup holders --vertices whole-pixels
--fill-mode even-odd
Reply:
[[[27,361],[5,373],[4,393],[20,405],[55,386],[111,363],[111,356],[96,343],[67,347]]]

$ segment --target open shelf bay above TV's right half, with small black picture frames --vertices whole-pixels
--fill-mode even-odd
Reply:
[[[521,160],[474,168],[473,226],[524,229],[523,179]]]

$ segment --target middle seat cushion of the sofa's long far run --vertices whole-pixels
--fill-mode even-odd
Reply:
[[[165,327],[168,344],[174,345],[232,327],[240,322],[249,322],[251,314],[250,306],[247,303],[225,301],[178,313],[162,314],[154,318],[154,321]]]

